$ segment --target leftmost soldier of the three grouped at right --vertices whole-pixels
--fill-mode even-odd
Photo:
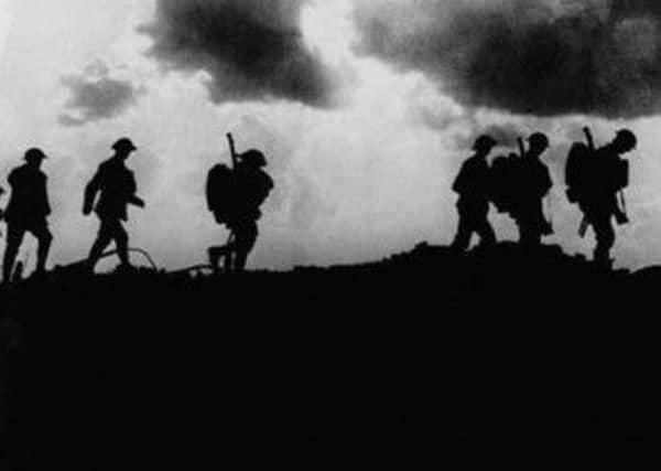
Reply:
[[[466,250],[474,233],[479,235],[483,246],[496,244],[496,234],[488,220],[491,183],[487,162],[487,156],[496,143],[490,136],[478,137],[473,146],[475,153],[464,162],[452,185],[452,190],[459,195],[459,222],[452,243],[452,248],[456,250]]]

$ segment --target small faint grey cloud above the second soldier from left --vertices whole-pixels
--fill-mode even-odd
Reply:
[[[67,113],[59,115],[63,126],[83,126],[110,119],[132,106],[143,92],[131,82],[111,77],[67,76],[62,79],[71,93]]]

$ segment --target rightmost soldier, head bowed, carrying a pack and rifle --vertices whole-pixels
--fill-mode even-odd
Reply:
[[[577,204],[584,214],[579,234],[583,236],[589,225],[594,228],[597,239],[595,263],[610,268],[610,249],[615,244],[613,218],[618,224],[629,222],[622,194],[629,184],[629,162],[621,154],[632,151],[637,139],[630,130],[621,129],[610,143],[596,149],[589,129],[585,128],[584,131],[587,146],[574,143],[567,157],[566,194],[570,202]]]

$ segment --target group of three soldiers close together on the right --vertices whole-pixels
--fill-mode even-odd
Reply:
[[[628,162],[621,156],[636,148],[637,139],[630,130],[621,129],[610,143],[596,149],[587,128],[585,132],[588,144],[575,142],[567,157],[567,197],[584,214],[581,234],[590,225],[595,232],[595,263],[610,267],[610,249],[615,244],[613,221],[628,222],[624,197],[618,199],[628,185]],[[466,250],[473,234],[480,237],[483,246],[496,244],[488,220],[491,203],[513,218],[522,246],[537,247],[543,236],[553,234],[543,211],[543,200],[553,186],[549,168],[541,161],[549,148],[549,138],[534,132],[528,141],[525,149],[520,140],[520,156],[497,157],[489,164],[487,158],[498,142],[486,135],[477,138],[473,147],[475,153],[464,162],[453,185],[459,195],[459,221],[453,248]]]

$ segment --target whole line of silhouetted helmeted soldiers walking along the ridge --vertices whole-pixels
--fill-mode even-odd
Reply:
[[[565,179],[567,196],[584,213],[582,232],[592,225],[596,234],[594,259],[597,264],[611,265],[610,249],[615,243],[613,220],[627,222],[618,193],[628,184],[628,167],[621,154],[636,148],[636,136],[622,129],[613,142],[595,149],[587,132],[588,146],[575,143],[567,158]],[[217,269],[225,258],[227,270],[243,270],[249,253],[258,236],[257,221],[260,206],[273,188],[273,181],[263,171],[267,160],[259,150],[236,154],[230,138],[232,168],[215,165],[207,176],[207,203],[216,221],[230,232],[224,246],[209,249],[210,265]],[[553,233],[552,224],[543,211],[543,200],[553,182],[541,157],[549,148],[549,138],[534,132],[528,138],[528,149],[520,140],[520,156],[498,157],[489,164],[487,158],[498,142],[490,136],[480,136],[475,141],[475,153],[464,162],[453,190],[458,193],[458,229],[453,248],[466,250],[473,234],[480,237],[483,246],[496,244],[496,235],[488,220],[489,206],[494,203],[507,212],[519,227],[520,243],[524,247],[537,247],[542,237]],[[128,138],[112,144],[115,154],[102,162],[85,188],[83,214],[96,212],[99,232],[89,251],[86,267],[94,270],[104,250],[111,242],[117,246],[120,268],[130,268],[129,235],[123,227],[128,218],[128,205],[144,207],[137,195],[133,172],[126,167],[129,156],[137,150]],[[26,232],[37,242],[36,274],[45,271],[46,259],[53,242],[47,217],[51,205],[46,190],[46,175],[41,170],[45,153],[36,148],[24,156],[25,163],[9,174],[11,197],[3,214],[7,221],[7,247],[2,264],[3,281],[12,277],[15,258]]]

